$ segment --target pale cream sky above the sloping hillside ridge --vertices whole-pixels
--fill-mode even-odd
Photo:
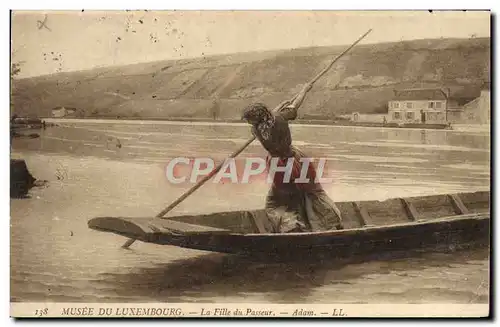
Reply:
[[[46,17],[46,18],[45,18]],[[43,25],[42,22],[45,21]],[[440,37],[488,37],[488,12],[15,12],[19,77],[221,53]]]

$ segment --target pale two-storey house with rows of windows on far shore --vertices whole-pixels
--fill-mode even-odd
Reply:
[[[388,103],[390,123],[446,123],[448,92],[442,89],[394,90]]]

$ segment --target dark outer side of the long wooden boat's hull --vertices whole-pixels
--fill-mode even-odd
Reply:
[[[108,220],[108,229],[97,227],[106,225],[103,219]],[[330,257],[346,258],[387,251],[455,249],[464,245],[487,246],[490,239],[489,214],[454,216],[433,221],[345,231],[289,234],[234,234],[229,231],[176,234],[165,231],[139,232],[139,228],[135,233],[127,233],[116,227],[121,222],[120,218],[101,218],[101,221],[95,220],[90,227],[159,245],[280,257],[328,253]],[[168,224],[168,220],[165,222]]]

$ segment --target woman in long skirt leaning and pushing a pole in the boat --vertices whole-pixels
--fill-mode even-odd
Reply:
[[[333,201],[316,181],[316,170],[309,164],[307,183],[294,183],[302,169],[304,153],[292,145],[289,120],[297,118],[297,110],[312,85],[306,85],[293,100],[285,101],[273,114],[264,104],[255,103],[244,109],[242,119],[252,125],[252,133],[267,150],[267,164],[275,158],[279,167],[293,159],[290,182],[284,173],[276,173],[266,199],[266,213],[275,233],[342,229],[341,215]]]

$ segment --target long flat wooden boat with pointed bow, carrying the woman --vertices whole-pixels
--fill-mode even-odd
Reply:
[[[264,256],[346,258],[464,244],[489,246],[490,192],[337,202],[344,230],[269,233],[263,210],[161,218],[98,217],[91,229],[143,242]]]

